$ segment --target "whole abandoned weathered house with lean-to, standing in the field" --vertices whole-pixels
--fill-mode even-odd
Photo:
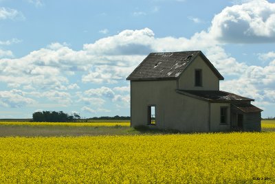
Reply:
[[[261,131],[251,98],[219,91],[221,73],[201,51],[149,54],[131,81],[131,126],[182,132]]]

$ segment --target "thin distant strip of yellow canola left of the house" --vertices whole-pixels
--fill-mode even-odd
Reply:
[[[130,122],[0,122],[7,126],[130,126]]]

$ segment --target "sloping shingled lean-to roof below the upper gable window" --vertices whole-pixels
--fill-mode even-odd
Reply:
[[[242,97],[234,93],[228,93],[226,91],[202,91],[202,90],[176,90],[177,93],[195,97],[200,100],[210,102],[243,102],[254,101],[254,99],[248,97]]]

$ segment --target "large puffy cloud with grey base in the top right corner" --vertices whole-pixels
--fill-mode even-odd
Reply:
[[[275,3],[253,0],[232,5],[214,16],[210,34],[228,43],[275,41]]]

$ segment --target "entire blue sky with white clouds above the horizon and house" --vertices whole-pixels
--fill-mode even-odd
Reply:
[[[274,43],[271,0],[0,0],[0,118],[129,115],[129,73],[152,51],[186,50],[274,117]]]

